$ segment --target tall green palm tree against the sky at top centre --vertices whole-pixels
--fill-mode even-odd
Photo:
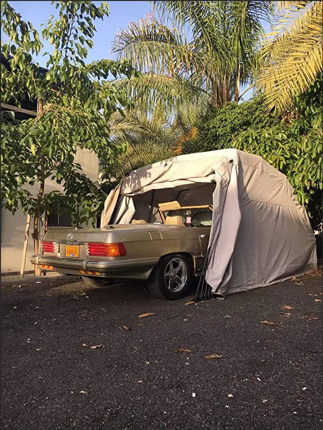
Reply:
[[[188,103],[238,101],[250,82],[269,1],[154,1],[147,15],[116,35],[113,51],[141,77],[118,84],[137,105],[168,118]],[[189,38],[185,34],[189,34]]]

